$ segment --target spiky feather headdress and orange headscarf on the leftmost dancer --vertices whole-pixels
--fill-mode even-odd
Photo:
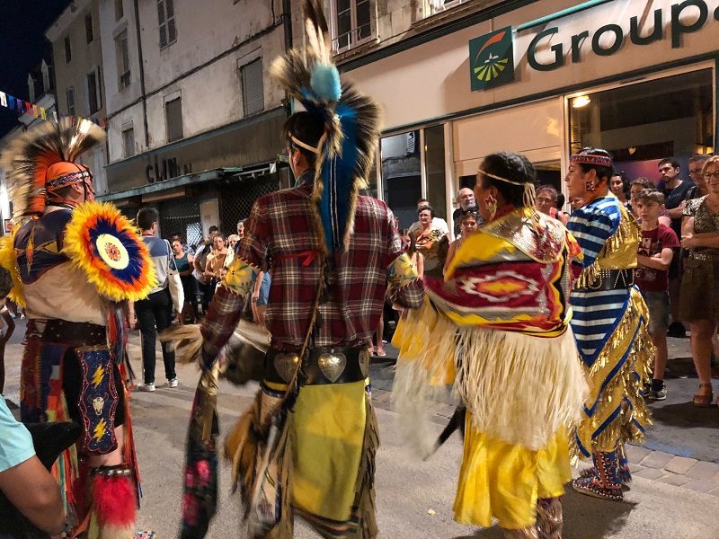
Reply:
[[[59,198],[57,190],[92,178],[90,169],[75,161],[104,139],[105,132],[89,119],[62,118],[44,121],[13,140],[0,159],[13,217],[40,214],[49,198]]]

